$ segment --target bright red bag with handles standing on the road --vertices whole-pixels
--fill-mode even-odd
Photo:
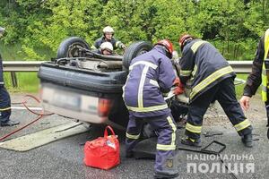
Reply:
[[[108,129],[112,135],[108,136]],[[86,166],[105,170],[120,163],[117,135],[109,125],[105,129],[104,137],[85,143],[83,162]]]

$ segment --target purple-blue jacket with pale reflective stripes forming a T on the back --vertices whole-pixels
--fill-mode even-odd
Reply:
[[[162,93],[168,93],[176,79],[172,64],[161,46],[132,60],[123,98],[131,115],[150,117],[169,115]]]

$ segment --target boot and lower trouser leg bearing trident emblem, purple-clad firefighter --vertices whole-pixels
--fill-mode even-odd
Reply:
[[[154,178],[175,178],[178,174],[178,158],[170,157],[164,160],[161,170],[154,171]]]

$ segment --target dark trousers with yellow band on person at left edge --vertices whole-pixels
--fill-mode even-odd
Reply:
[[[6,123],[11,115],[11,100],[9,93],[0,85],[0,122]]]

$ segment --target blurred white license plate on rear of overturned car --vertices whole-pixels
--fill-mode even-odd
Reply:
[[[81,97],[72,94],[55,93],[53,104],[56,107],[64,107],[79,110],[81,107]]]

